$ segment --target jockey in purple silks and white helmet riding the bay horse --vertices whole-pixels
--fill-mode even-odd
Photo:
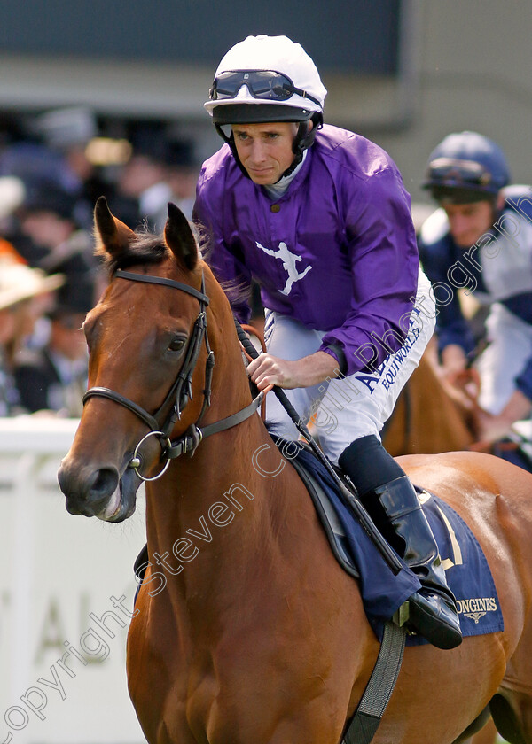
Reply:
[[[268,353],[249,376],[259,390],[285,388],[305,421],[315,416],[325,454],[419,577],[411,630],[456,647],[456,602],[434,536],[379,437],[434,331],[410,197],[386,152],[324,125],[325,95],[312,59],[286,36],[232,47],[205,104],[225,144],[202,167],[195,220],[219,279],[260,284]],[[246,322],[241,297],[233,310]],[[298,437],[273,396],[267,417]]]

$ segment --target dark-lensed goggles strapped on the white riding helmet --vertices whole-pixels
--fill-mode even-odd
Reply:
[[[208,91],[209,97],[212,101],[234,98],[243,85],[254,98],[262,101],[286,101],[295,93],[321,107],[317,98],[310,96],[306,90],[296,88],[289,77],[275,70],[231,70],[221,73],[215,77]]]

